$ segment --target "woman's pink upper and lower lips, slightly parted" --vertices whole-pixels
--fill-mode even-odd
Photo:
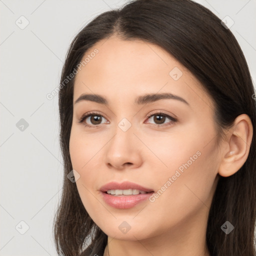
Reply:
[[[145,194],[132,194],[132,195],[111,195],[107,194],[106,191],[110,189],[139,189],[143,190],[147,193]],[[153,189],[141,186],[139,184],[129,182],[129,181],[124,181],[122,183],[118,183],[115,181],[106,183],[100,188],[100,194],[103,198],[103,200],[110,206],[114,208],[119,208],[119,209],[127,209],[135,206],[136,204],[148,199],[152,194],[154,193]]]

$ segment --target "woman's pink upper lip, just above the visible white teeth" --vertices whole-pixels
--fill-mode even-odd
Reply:
[[[118,183],[116,181],[111,181],[108,182],[106,184],[104,184],[103,186],[100,187],[100,191],[102,192],[106,192],[107,190],[115,190],[115,189],[138,189],[138,190],[142,190],[145,192],[153,192],[153,189],[151,188],[147,188],[144,186],[141,186],[139,184],[130,182],[130,181],[123,181],[121,183]]]

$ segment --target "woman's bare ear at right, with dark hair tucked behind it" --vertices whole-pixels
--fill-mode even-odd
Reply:
[[[253,127],[247,114],[238,115],[226,137],[218,169],[219,175],[230,176],[238,171],[247,159],[252,140]]]

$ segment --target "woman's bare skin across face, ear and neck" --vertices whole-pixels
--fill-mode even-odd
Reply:
[[[213,103],[198,80],[161,47],[141,40],[124,41],[112,36],[98,41],[84,54],[99,52],[76,74],[73,103],[82,93],[100,94],[109,105],[83,100],[73,105],[70,134],[72,167],[79,173],[76,185],[93,221],[108,235],[108,255],[209,255],[206,224],[219,175],[235,173],[245,162],[252,138],[252,124],[239,115],[216,146]],[[174,80],[169,72],[178,67]],[[175,99],[135,105],[144,93],[171,92]],[[159,111],[176,117],[156,122],[148,113]],[[97,111],[98,127],[86,127],[79,118]],[[118,123],[126,118],[131,127]],[[163,117],[164,118],[164,117]],[[86,118],[93,125],[93,119]],[[170,125],[154,127],[153,124]],[[95,125],[95,124],[94,124]],[[161,124],[162,125],[162,124]],[[109,181],[138,183],[157,191],[179,166],[197,151],[200,155],[154,202],[145,200],[129,209],[106,204],[100,187]],[[120,231],[126,221],[130,230]]]

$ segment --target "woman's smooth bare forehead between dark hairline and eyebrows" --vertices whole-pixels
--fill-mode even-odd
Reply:
[[[133,100],[144,93],[171,92],[194,107],[212,107],[199,81],[158,45],[113,36],[95,43],[83,60],[75,77],[74,101],[82,93],[101,94],[111,102],[116,97]]]

